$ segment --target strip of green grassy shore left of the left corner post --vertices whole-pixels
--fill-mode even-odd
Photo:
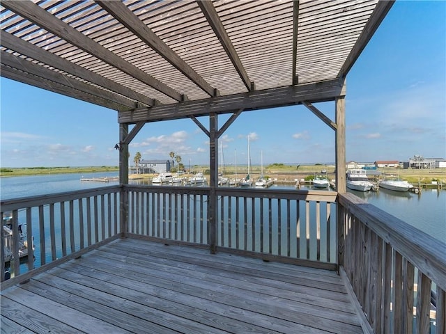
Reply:
[[[24,167],[0,168],[0,176],[48,175],[67,173],[96,173],[118,171],[118,166],[89,166],[89,167]]]

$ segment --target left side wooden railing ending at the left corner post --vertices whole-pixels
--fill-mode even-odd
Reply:
[[[107,186],[98,189],[55,193],[45,196],[18,198],[1,201],[1,218],[11,217],[13,259],[9,263],[13,278],[26,271],[22,280],[29,278],[30,271],[45,264],[53,266],[63,260],[79,256],[109,239],[118,237],[121,232],[118,219],[120,186]],[[3,223],[5,221],[3,220]],[[20,259],[20,233],[26,232],[29,254],[35,248],[34,256]],[[26,227],[25,227],[26,225]],[[6,266],[3,237],[0,238],[1,280]],[[20,264],[22,262],[22,264]],[[48,266],[45,266],[48,268]],[[33,270],[33,273],[38,271]]]

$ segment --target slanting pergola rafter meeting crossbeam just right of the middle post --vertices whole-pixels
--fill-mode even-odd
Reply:
[[[240,79],[243,81],[243,84],[245,84],[248,91],[254,90],[254,82],[249,80],[245,67],[243,67],[243,63],[240,61],[236,48],[233,46],[226,29],[224,29],[222,20],[218,16],[217,10],[215,10],[212,1],[197,0],[197,3],[201,9],[201,12],[203,12],[203,15],[208,20],[210,27],[213,29],[215,35],[222,44],[224,51],[226,51],[232,65],[236,68]]]

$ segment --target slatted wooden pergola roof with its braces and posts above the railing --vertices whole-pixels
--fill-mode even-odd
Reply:
[[[1,76],[116,110],[122,184],[146,122],[196,122],[210,138],[214,187],[218,138],[240,113],[304,104],[336,134],[344,192],[346,75],[392,4],[3,0]],[[325,101],[336,101],[335,120],[314,106]],[[223,113],[232,115],[219,127]]]

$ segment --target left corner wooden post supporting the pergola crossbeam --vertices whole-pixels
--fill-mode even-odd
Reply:
[[[121,192],[119,194],[119,221],[121,237],[125,237],[128,232],[128,196],[124,190],[124,185],[128,184],[128,144],[123,144],[124,138],[128,135],[128,124],[119,125],[119,184]]]

